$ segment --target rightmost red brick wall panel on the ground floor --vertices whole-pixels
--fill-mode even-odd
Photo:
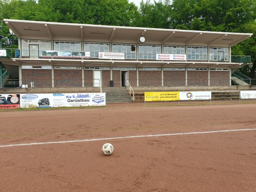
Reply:
[[[210,71],[210,85],[230,85],[229,71]]]

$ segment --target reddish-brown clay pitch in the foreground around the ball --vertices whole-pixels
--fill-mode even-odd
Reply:
[[[0,146],[256,128],[256,104],[125,105],[0,111]],[[0,147],[0,191],[256,191],[256,130]]]

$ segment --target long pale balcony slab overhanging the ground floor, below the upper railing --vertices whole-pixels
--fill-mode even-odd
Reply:
[[[207,62],[207,61],[114,61],[114,60],[83,60],[83,59],[28,59],[13,58],[0,60],[9,65],[32,65],[32,66],[84,66],[84,67],[212,67],[212,68],[238,68],[244,63]]]

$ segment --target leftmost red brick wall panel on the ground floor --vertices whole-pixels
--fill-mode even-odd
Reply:
[[[34,87],[52,87],[52,70],[22,69],[21,74],[23,83],[29,85],[34,82]]]

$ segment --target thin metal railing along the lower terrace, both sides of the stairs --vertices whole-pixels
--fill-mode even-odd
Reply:
[[[245,79],[244,79],[245,80]],[[84,84],[82,83],[84,81]],[[52,83],[53,82],[53,83]],[[137,82],[139,84],[137,85]],[[132,87],[185,87],[185,86],[239,86],[256,85],[256,79],[251,79],[251,84],[241,81],[239,84],[234,79],[128,79],[127,87],[131,95]],[[38,88],[38,87],[99,87],[102,93],[102,85],[99,79],[7,79],[4,88]],[[131,96],[130,95],[130,96]]]

